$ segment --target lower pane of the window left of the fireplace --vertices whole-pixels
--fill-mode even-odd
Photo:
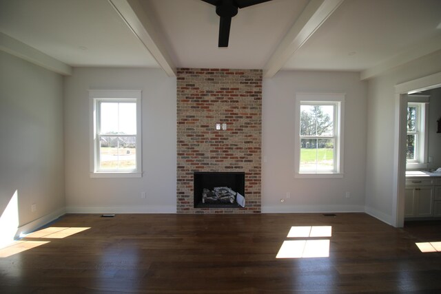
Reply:
[[[100,137],[100,162],[103,170],[136,169],[136,137]]]

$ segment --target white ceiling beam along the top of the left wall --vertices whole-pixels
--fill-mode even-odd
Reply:
[[[39,65],[46,70],[57,72],[57,74],[63,74],[64,76],[70,76],[72,74],[72,67],[69,65],[2,32],[0,32],[0,50],[24,59],[25,61],[29,61],[30,63],[34,63],[35,65]]]

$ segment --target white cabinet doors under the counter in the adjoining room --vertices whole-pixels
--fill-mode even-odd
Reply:
[[[404,218],[431,216],[433,216],[433,186],[406,187]]]

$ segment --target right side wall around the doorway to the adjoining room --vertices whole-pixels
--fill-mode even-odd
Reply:
[[[368,81],[366,212],[393,224],[394,86],[441,71],[441,52],[397,67]]]

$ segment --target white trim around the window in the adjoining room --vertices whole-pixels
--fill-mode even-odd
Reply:
[[[416,160],[407,160],[406,169],[427,169],[427,154],[429,147],[429,96],[427,95],[412,95],[407,98],[407,105],[417,105],[419,107],[417,116],[418,125],[418,142]]]

